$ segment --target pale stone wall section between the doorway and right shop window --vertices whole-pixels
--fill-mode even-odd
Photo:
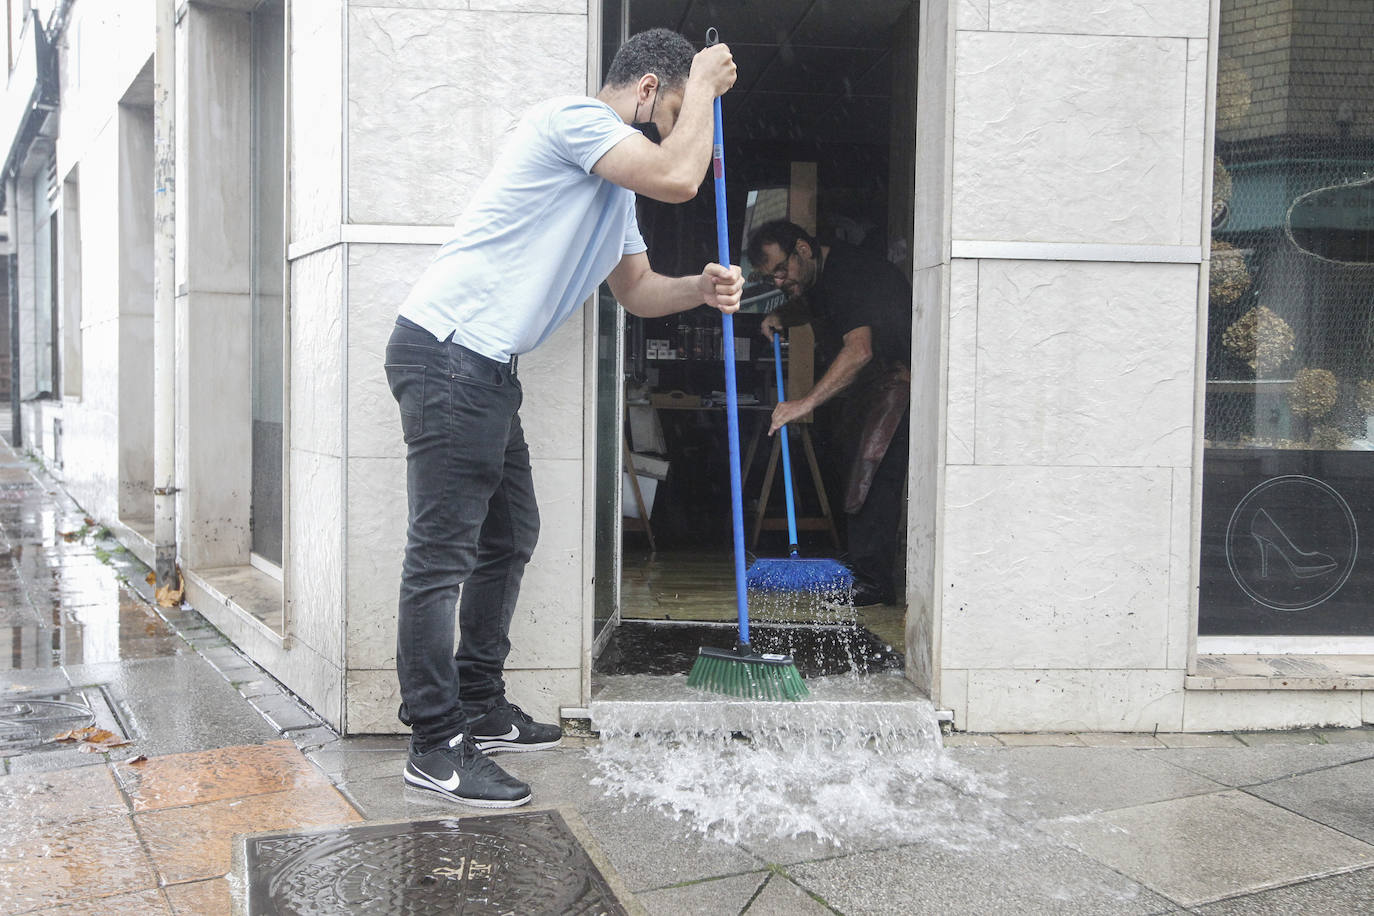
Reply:
[[[1183,724],[1208,12],[956,5],[936,699],[960,728]]]

